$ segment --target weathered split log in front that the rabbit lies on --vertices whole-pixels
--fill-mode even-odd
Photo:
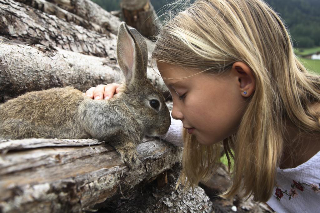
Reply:
[[[182,154],[181,148],[147,138],[137,147],[140,166],[128,170],[112,147],[96,140],[0,144],[0,212],[84,212],[128,197],[136,185],[180,162]]]

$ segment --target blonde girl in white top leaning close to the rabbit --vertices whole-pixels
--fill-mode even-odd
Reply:
[[[197,0],[163,26],[152,58],[184,128],[183,183],[208,176],[223,141],[234,167],[222,197],[320,212],[320,78],[295,57],[276,12],[262,0]],[[86,93],[112,97],[117,87]]]

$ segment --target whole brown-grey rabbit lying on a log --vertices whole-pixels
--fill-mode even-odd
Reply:
[[[140,164],[136,146],[165,134],[170,113],[147,79],[148,49],[142,35],[122,22],[116,55],[124,84],[115,98],[93,100],[73,87],[33,91],[0,105],[0,138],[96,138],[113,146],[131,169]]]

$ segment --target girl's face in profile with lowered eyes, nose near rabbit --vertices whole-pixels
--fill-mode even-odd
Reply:
[[[199,143],[212,145],[236,133],[247,104],[238,75],[210,75],[163,62],[157,67],[172,94],[172,117]]]

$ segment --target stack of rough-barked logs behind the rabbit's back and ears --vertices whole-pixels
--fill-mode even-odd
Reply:
[[[89,0],[74,0],[69,6],[68,1],[55,0],[57,4],[44,0],[19,1],[33,7],[0,0],[0,103],[28,91],[57,86],[69,85],[86,91],[98,84],[121,83],[123,75],[115,53],[114,33],[120,23],[117,17]],[[81,3],[87,7],[83,8]],[[92,18],[94,12],[104,18],[100,22]],[[81,14],[85,15],[80,17]],[[112,17],[110,21],[108,17]],[[77,20],[82,21],[81,25],[76,24]],[[96,31],[82,26],[98,25],[94,21],[110,28]],[[153,43],[147,40],[147,44],[150,57]],[[155,71],[156,67],[151,67],[149,61],[148,78],[159,90],[166,91]],[[164,94],[169,96],[168,91]]]

